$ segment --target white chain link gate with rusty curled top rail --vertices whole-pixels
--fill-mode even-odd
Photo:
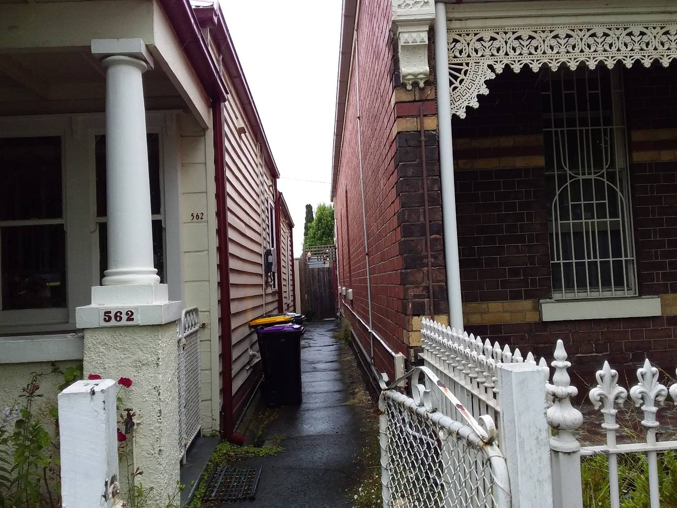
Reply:
[[[397,391],[401,381],[410,381],[412,396]],[[492,419],[478,423],[426,367],[390,385],[382,381],[381,388],[384,508],[510,508],[507,467]],[[466,424],[433,408],[433,400],[442,398],[460,410]]]

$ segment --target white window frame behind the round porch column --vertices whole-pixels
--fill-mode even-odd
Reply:
[[[160,135],[162,226],[165,228],[165,282],[170,297],[183,294],[177,114],[167,110],[146,113],[149,133]],[[66,308],[0,310],[0,335],[76,331],[75,310],[91,303],[91,287],[99,280],[96,222],[95,133],[105,133],[104,113],[1,117],[0,137],[62,137],[62,196],[66,228]],[[175,142],[171,142],[174,140]],[[1,177],[0,177],[1,178]],[[0,180],[1,182],[1,180]],[[89,186],[89,199],[81,198]],[[69,199],[70,196],[70,199]],[[75,196],[74,198],[72,196]],[[50,219],[51,222],[51,219]],[[28,224],[26,222],[26,224]],[[88,230],[87,226],[88,225]],[[87,237],[86,241],[82,238]],[[87,268],[89,275],[87,275]],[[42,335],[41,337],[56,337]],[[1,360],[1,358],[0,358]]]

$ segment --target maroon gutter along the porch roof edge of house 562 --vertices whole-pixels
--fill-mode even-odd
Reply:
[[[190,2],[188,0],[158,0],[158,2],[167,14],[177,39],[209,98],[212,102],[225,102],[228,91],[202,36],[202,30]]]

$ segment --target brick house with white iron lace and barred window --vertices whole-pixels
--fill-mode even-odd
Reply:
[[[420,323],[677,355],[677,3],[345,0],[331,197],[365,364]],[[634,374],[633,374],[634,376]]]

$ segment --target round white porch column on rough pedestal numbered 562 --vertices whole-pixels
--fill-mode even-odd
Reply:
[[[141,39],[95,39],[91,50],[106,69],[108,270],[103,285],[91,288],[91,305],[76,309],[83,371],[132,379],[121,391],[121,408],[136,413],[127,436],[129,467],[144,471],[143,484],[153,489],[150,505],[164,506],[179,481],[177,320],[183,303],[169,301],[153,266],[142,81],[153,62]]]

